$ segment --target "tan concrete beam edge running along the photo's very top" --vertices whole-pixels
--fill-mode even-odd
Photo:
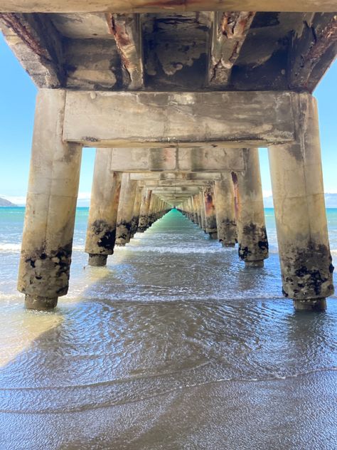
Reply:
[[[43,13],[150,13],[169,11],[333,12],[336,0],[0,0],[0,11]]]

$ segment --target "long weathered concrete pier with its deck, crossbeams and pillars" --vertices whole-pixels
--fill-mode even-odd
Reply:
[[[1,30],[39,89],[18,274],[27,308],[68,292],[82,147],[97,149],[91,266],[176,207],[256,271],[268,258],[257,149],[268,147],[283,295],[326,308],[312,92],[336,56],[336,1],[225,4],[0,0]]]

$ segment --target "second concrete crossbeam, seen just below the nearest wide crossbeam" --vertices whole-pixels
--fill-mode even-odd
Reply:
[[[244,170],[242,150],[223,148],[114,148],[114,172],[212,172]]]

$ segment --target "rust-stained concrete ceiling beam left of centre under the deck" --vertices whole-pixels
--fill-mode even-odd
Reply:
[[[122,59],[124,87],[129,90],[144,88],[139,14],[107,14],[107,24]]]

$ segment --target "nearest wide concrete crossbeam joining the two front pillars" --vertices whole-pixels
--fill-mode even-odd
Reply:
[[[87,147],[255,147],[292,142],[298,95],[68,90],[63,139]]]

